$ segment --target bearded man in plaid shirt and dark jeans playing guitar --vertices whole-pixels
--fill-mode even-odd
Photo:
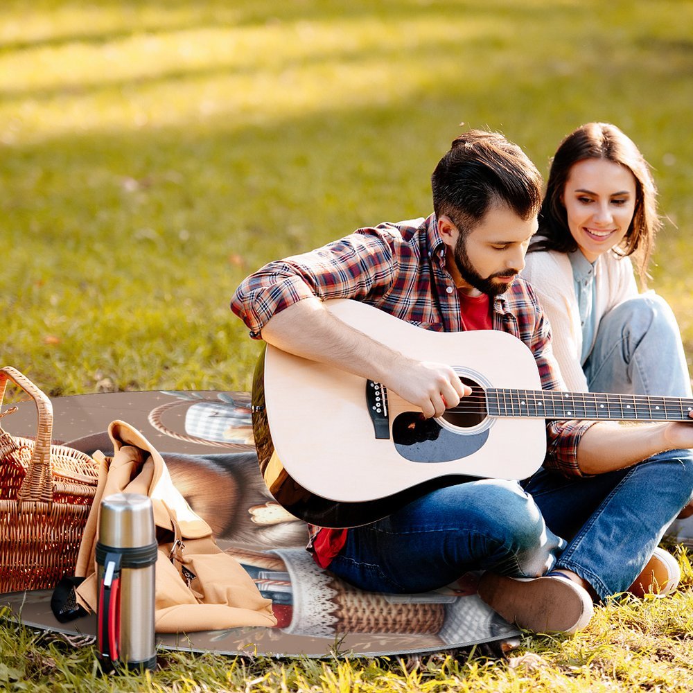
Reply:
[[[322,300],[364,301],[437,331],[509,332],[534,353],[542,387],[561,388],[549,326],[517,277],[537,227],[541,175],[500,134],[473,131],[439,162],[432,193],[426,219],[359,229],[266,265],[243,281],[232,310],[252,337],[383,383],[425,416],[471,390],[449,365],[385,347]],[[677,448],[693,446],[693,426],[554,421],[547,444],[543,469],[524,489],[505,480],[457,484],[365,527],[313,527],[308,549],[343,579],[389,593],[485,570],[480,596],[507,620],[574,632],[589,622],[594,599],[636,581],[687,504],[693,456]]]

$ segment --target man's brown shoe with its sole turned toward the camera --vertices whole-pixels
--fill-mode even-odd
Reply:
[[[595,613],[587,590],[570,579],[522,579],[486,572],[479,596],[509,623],[535,633],[575,633]]]

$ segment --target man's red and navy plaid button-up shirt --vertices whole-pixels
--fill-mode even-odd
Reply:
[[[426,329],[459,332],[464,327],[457,290],[445,266],[446,252],[435,215],[358,229],[313,252],[265,265],[240,284],[231,310],[243,319],[254,339],[261,338],[272,315],[311,296],[357,299]],[[518,337],[532,350],[543,389],[565,389],[552,353],[548,321],[522,278],[495,297],[492,320],[494,329]],[[581,476],[577,445],[592,425],[547,422],[544,466],[566,476]],[[309,547],[321,531],[312,529]]]

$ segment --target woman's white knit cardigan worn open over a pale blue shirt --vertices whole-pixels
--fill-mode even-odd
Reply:
[[[575,296],[572,265],[565,253],[554,250],[527,253],[522,276],[532,284],[551,324],[554,356],[565,385],[573,392],[587,392],[581,366],[582,328]],[[595,263],[595,326],[611,308],[638,295],[629,258],[608,252]],[[596,329],[595,329],[596,334]]]

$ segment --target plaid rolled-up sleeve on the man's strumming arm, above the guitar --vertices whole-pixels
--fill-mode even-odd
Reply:
[[[382,294],[396,271],[396,236],[378,229],[355,233],[312,252],[271,262],[240,283],[231,310],[261,338],[263,326],[281,310],[308,297],[363,299]]]

